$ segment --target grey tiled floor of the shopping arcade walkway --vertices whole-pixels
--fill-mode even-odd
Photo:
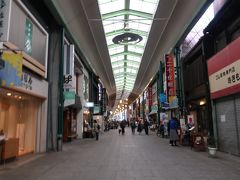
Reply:
[[[240,157],[172,147],[155,134],[117,130],[64,144],[28,163],[0,170],[0,180],[239,180]]]

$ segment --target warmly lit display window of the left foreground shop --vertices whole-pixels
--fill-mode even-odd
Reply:
[[[38,98],[0,88],[0,130],[6,143],[15,142],[11,147],[17,149],[18,155],[35,151],[40,102]]]

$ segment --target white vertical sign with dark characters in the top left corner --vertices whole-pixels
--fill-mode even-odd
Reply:
[[[0,0],[0,41],[8,41],[12,0]]]

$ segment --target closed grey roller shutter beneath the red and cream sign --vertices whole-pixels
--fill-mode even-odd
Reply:
[[[231,154],[239,154],[236,127],[234,97],[226,97],[216,101],[216,117],[219,138],[219,149]]]

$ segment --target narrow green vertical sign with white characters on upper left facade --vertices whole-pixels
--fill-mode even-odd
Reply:
[[[24,51],[29,55],[32,55],[32,32],[33,24],[29,19],[26,19]]]

